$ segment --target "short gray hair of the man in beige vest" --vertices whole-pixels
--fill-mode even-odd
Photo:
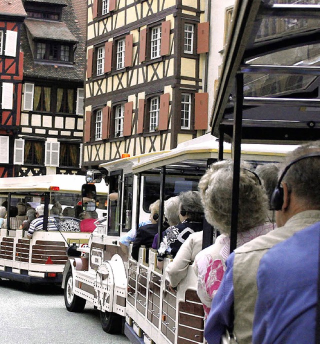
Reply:
[[[294,149],[283,161],[279,170],[282,174],[285,166],[293,160],[311,153],[312,156],[293,163],[285,173],[282,181],[286,182],[288,189],[300,199],[307,207],[320,208],[320,140],[311,141]]]

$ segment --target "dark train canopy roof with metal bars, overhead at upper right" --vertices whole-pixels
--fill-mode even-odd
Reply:
[[[238,107],[242,142],[320,137],[319,19],[319,0],[236,1],[211,115],[213,135],[232,140]]]

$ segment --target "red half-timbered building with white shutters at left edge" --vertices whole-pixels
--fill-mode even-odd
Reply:
[[[21,0],[0,0],[0,177],[13,176],[14,138],[20,124],[23,52]]]

